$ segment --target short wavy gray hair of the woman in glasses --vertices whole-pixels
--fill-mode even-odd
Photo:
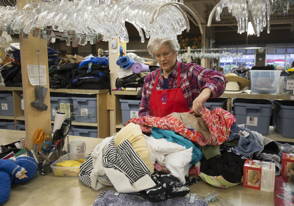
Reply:
[[[161,46],[167,44],[171,48],[171,51],[174,54],[177,54],[178,51],[180,50],[180,45],[178,43],[178,40],[176,39],[169,39],[169,38],[164,38],[164,39],[150,39],[147,45],[148,52],[151,56],[154,55],[154,52],[160,50]]]

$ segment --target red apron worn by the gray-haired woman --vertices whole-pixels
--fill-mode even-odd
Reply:
[[[158,72],[156,76],[156,80],[150,94],[149,108],[151,116],[163,117],[173,112],[188,112],[190,109],[186,103],[180,84],[181,67],[178,67],[177,87],[174,89],[156,90],[159,74],[160,72]]]

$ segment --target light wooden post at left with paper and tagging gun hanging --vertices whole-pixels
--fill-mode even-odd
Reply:
[[[26,0],[17,0],[18,9],[22,9],[26,5]],[[50,92],[47,91],[44,103],[48,106],[47,111],[40,111],[31,106],[31,102],[36,101],[35,88],[29,82],[27,65],[38,65],[38,53],[40,65],[46,66],[46,85],[49,88],[48,73],[48,52],[47,40],[33,37],[29,34],[28,38],[23,38],[23,33],[19,33],[20,55],[21,55],[21,73],[22,86],[24,92],[24,119],[26,124],[26,144],[29,149],[34,148],[34,134],[38,128],[42,128],[47,137],[51,136],[51,110],[50,110]],[[41,144],[43,141],[41,142]],[[42,146],[42,145],[40,145]]]

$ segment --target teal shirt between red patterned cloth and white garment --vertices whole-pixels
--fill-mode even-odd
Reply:
[[[198,146],[194,145],[190,140],[185,139],[182,136],[176,134],[174,131],[152,127],[150,136],[154,137],[155,139],[166,138],[167,141],[178,143],[186,147],[186,149],[192,147],[192,160],[190,163],[193,165],[203,158],[203,153],[198,148]]]

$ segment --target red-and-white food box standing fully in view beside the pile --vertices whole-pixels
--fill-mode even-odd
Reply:
[[[243,187],[273,193],[275,163],[247,159],[244,164]]]

